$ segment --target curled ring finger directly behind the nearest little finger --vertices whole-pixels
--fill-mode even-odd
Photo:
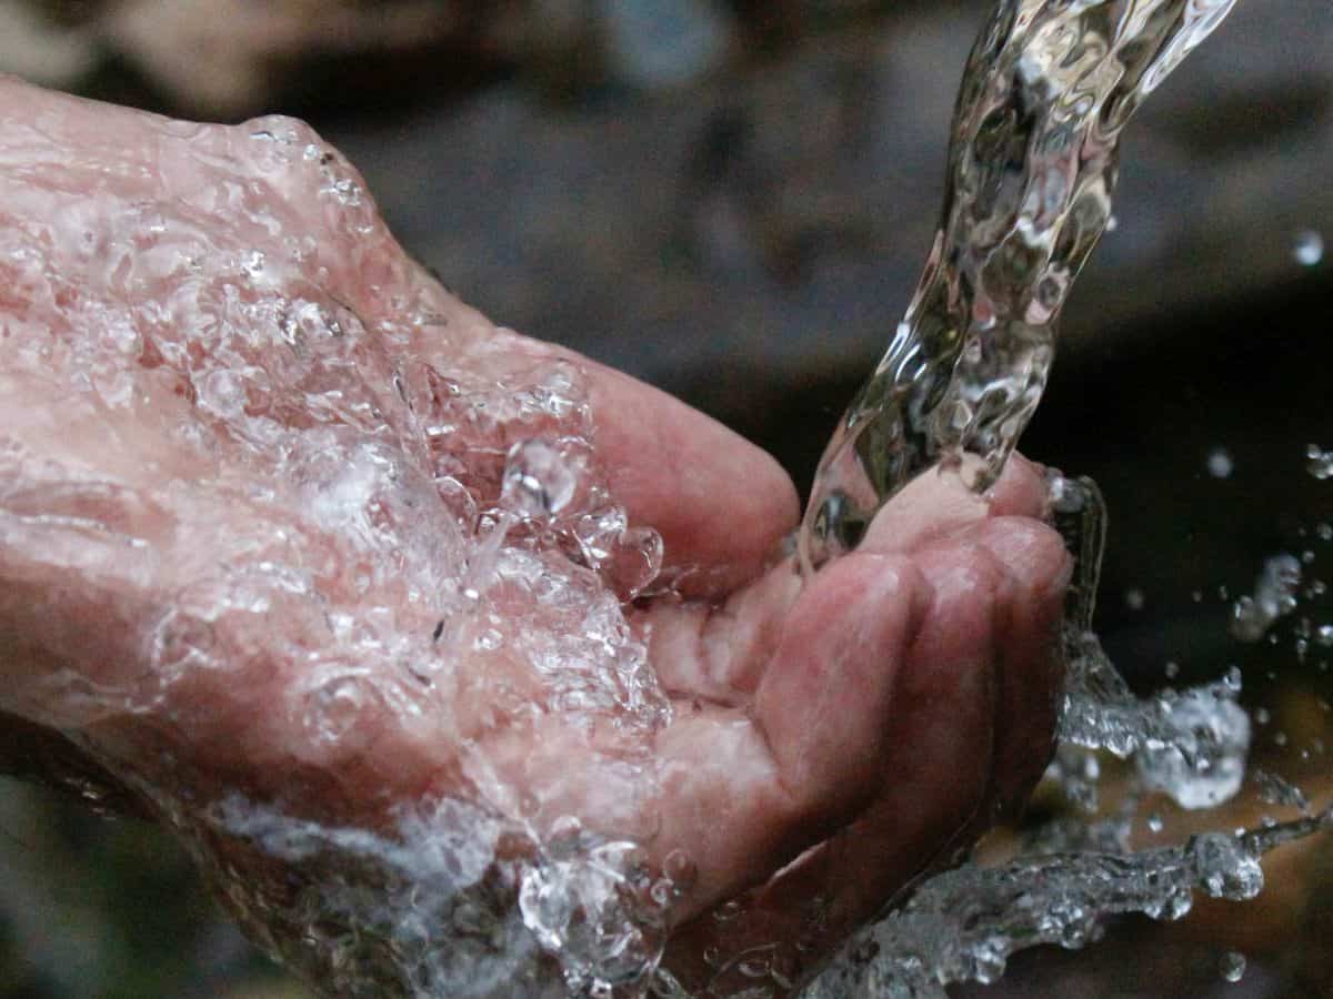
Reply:
[[[744,916],[725,923],[701,916],[684,934],[689,951],[729,955],[785,940],[782,974],[801,978],[977,809],[990,765],[993,614],[1002,574],[984,553],[960,546],[924,555],[920,567],[928,609],[897,677],[869,813],[760,888]]]

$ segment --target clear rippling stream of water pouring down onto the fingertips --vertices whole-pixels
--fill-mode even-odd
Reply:
[[[1069,289],[1110,218],[1121,132],[1234,0],[1001,0],[954,112],[942,222],[888,352],[829,442],[806,566],[964,454],[998,478],[1037,408]]]

